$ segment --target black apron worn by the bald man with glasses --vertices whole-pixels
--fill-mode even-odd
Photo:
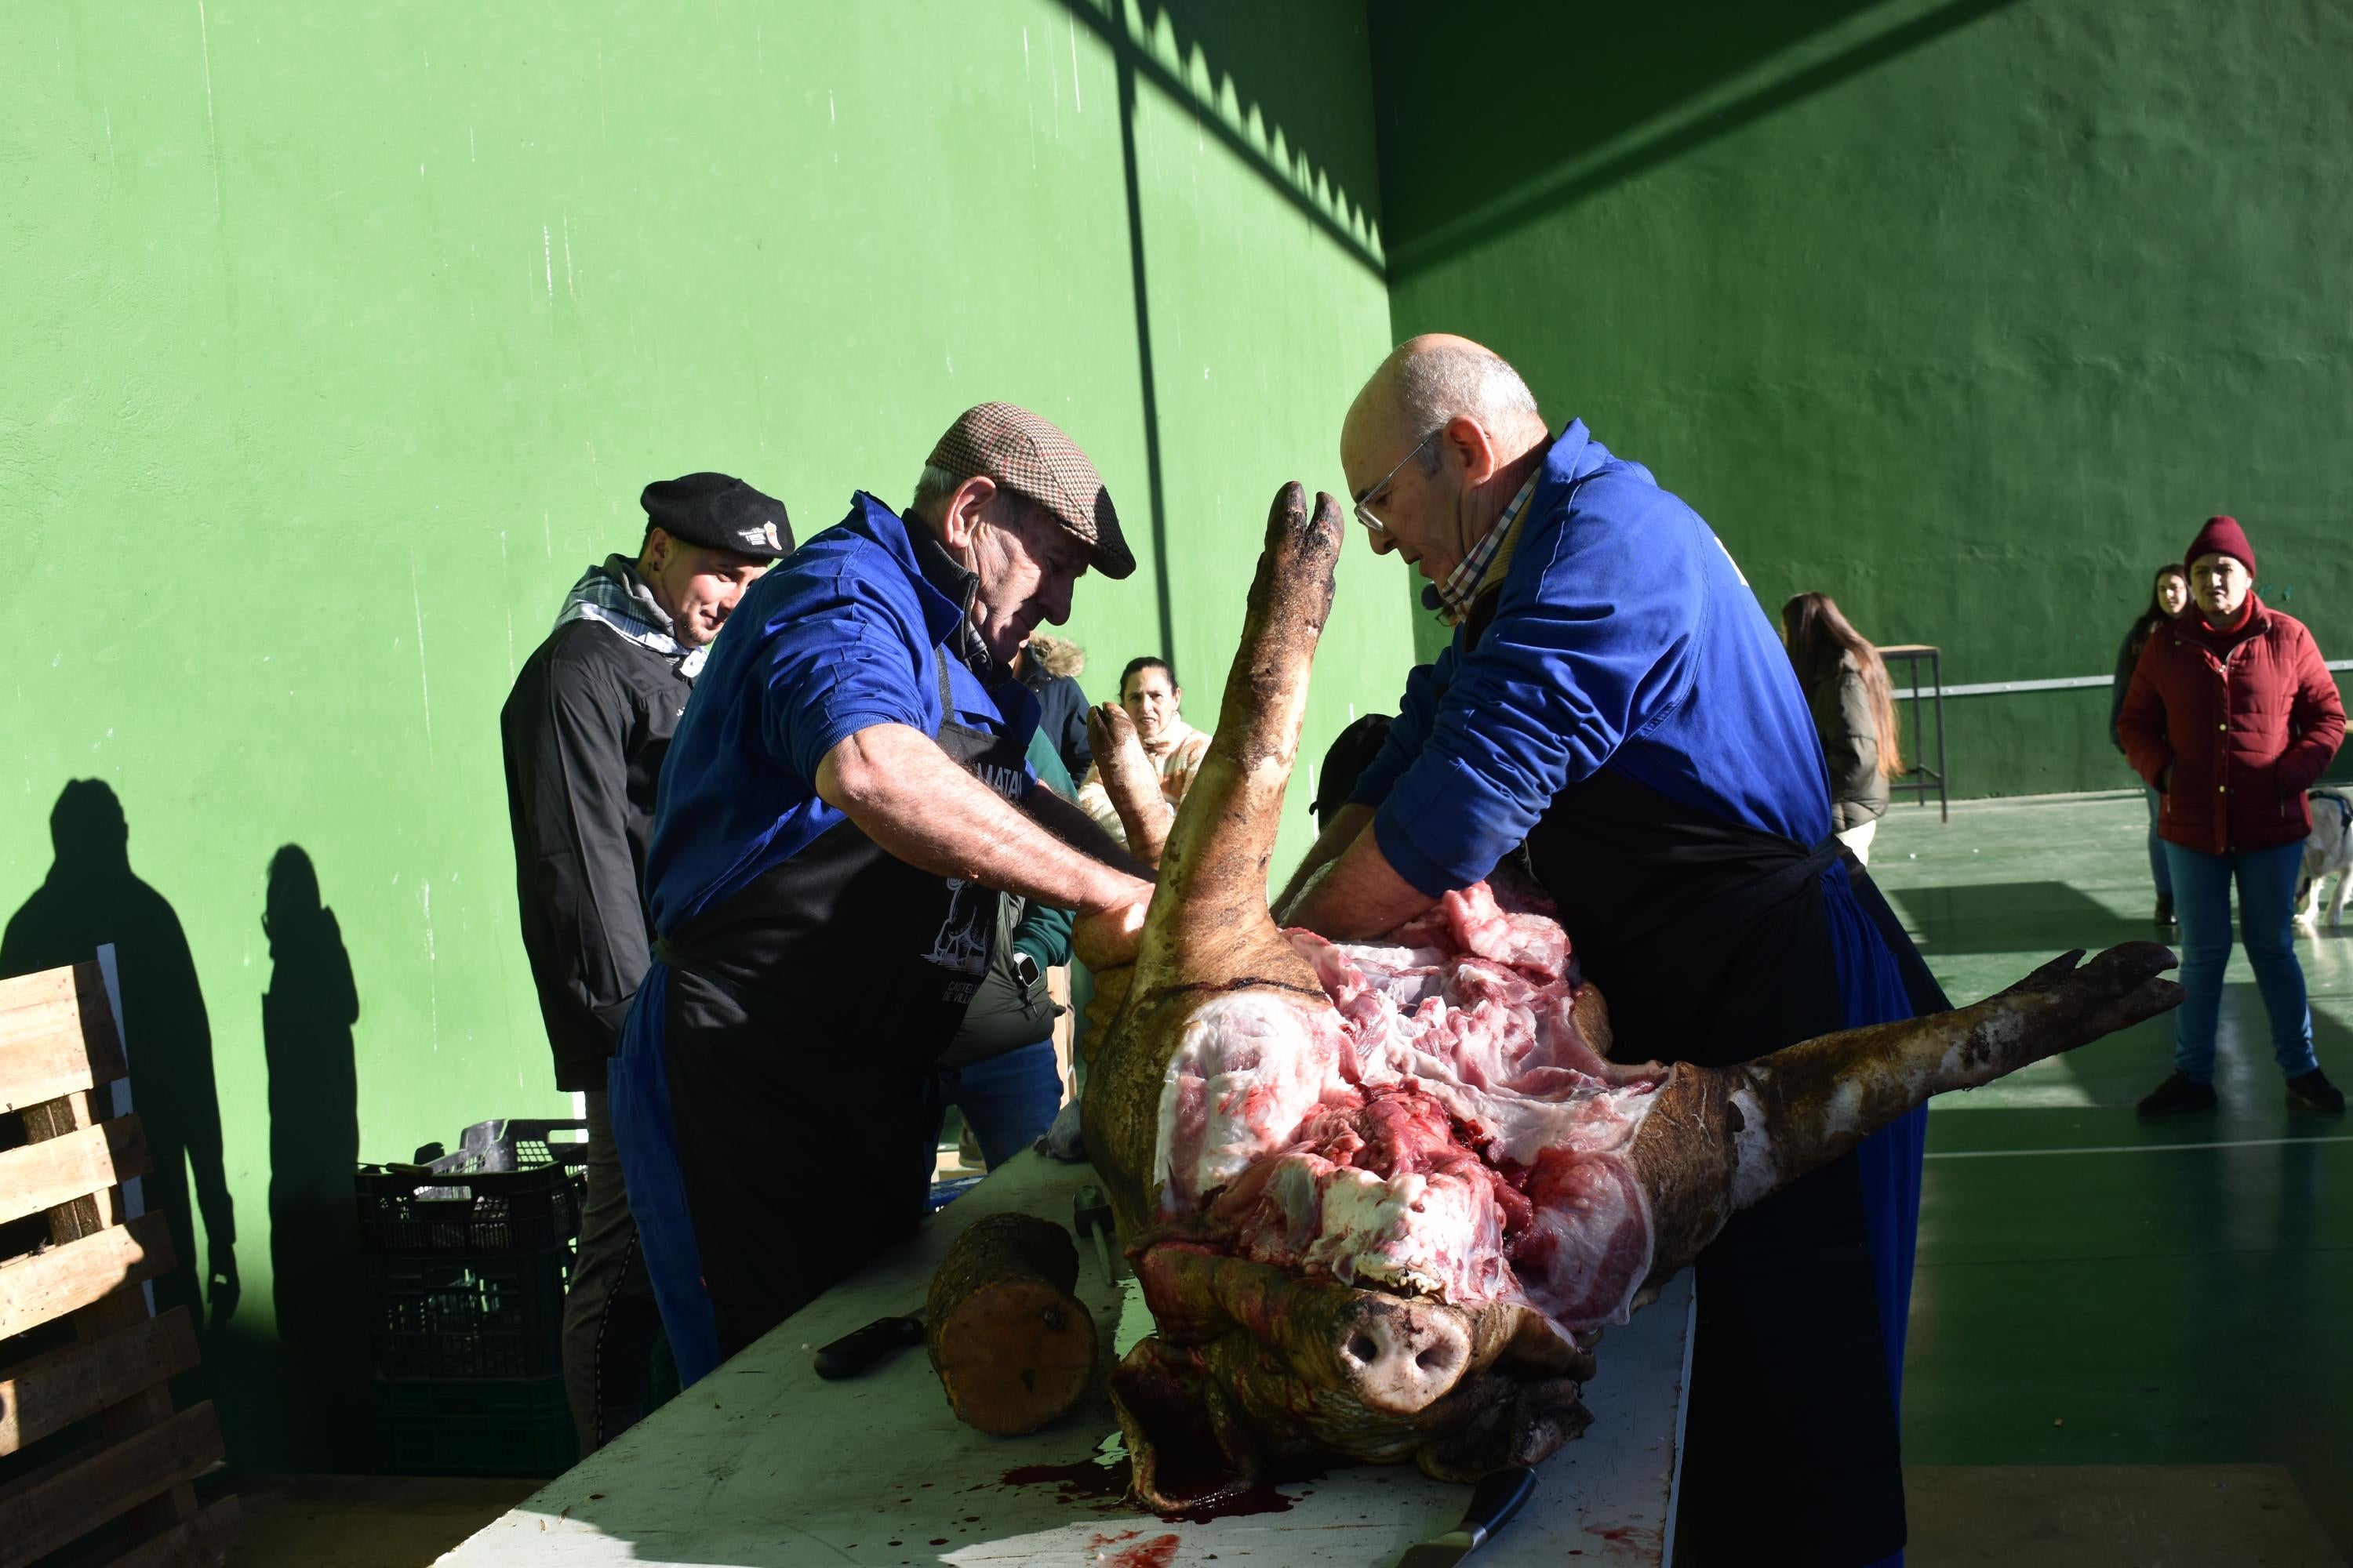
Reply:
[[[1473,616],[1466,642],[1482,625]],[[1609,1006],[1614,1056],[1711,1067],[1845,1027],[1821,893],[1838,853],[1701,818],[1607,766],[1527,837]],[[1894,914],[1875,891],[1864,907],[1901,964]],[[1904,969],[1918,1006],[1927,969],[1915,954]],[[1694,1274],[1675,1561],[1857,1568],[1899,1552],[1904,1472],[1854,1154],[1734,1215]]]

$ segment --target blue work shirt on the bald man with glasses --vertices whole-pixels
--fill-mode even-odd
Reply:
[[[1819,844],[1831,776],[1732,555],[1649,470],[1569,428],[1544,454],[1478,646],[1419,665],[1353,802],[1428,896],[1478,882],[1602,766],[1708,818]]]

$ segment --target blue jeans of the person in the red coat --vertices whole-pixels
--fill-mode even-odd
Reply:
[[[2271,1016],[2271,1056],[2287,1077],[2320,1065],[2313,1056],[2313,1011],[2304,1001],[2297,964],[2297,877],[2304,844],[2238,849],[2207,856],[2167,844],[2174,875],[2174,914],[2181,919],[2181,987],[2174,1011],[2174,1067],[2198,1084],[2214,1081],[2214,1023],[2221,1016],[2221,971],[2231,961],[2231,879],[2238,879],[2238,936]]]

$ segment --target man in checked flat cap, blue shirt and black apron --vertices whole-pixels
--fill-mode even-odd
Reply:
[[[711,646],[647,851],[654,969],[609,1070],[661,1319],[692,1382],[922,1218],[934,1060],[998,891],[1134,950],[1151,884],[1038,785],[1014,651],[1134,557],[1085,454],[967,409],[906,517],[868,494]]]

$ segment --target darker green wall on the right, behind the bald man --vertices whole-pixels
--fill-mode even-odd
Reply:
[[[1374,0],[1398,336],[1511,357],[1953,684],[2106,675],[2209,512],[2353,656],[2353,14]],[[2101,691],[1946,705],[1962,795],[2129,788]]]

